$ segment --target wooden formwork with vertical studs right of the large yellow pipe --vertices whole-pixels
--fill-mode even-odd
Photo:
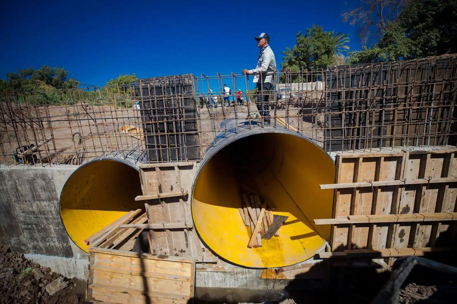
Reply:
[[[335,184],[365,185],[335,189],[333,218],[455,212],[455,152],[456,149],[337,155]],[[367,186],[373,182],[386,185]],[[450,246],[446,240],[455,237],[455,226],[451,220],[340,223],[332,225],[330,244],[334,252]]]

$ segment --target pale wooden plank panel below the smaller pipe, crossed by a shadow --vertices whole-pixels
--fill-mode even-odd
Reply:
[[[90,248],[90,303],[186,304],[194,296],[195,259]]]

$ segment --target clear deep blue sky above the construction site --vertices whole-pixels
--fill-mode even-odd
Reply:
[[[255,36],[270,35],[279,66],[296,33],[313,24],[351,34],[351,49],[360,49],[355,28],[341,21],[348,2],[1,1],[0,78],[42,65],[94,85],[121,73],[240,73],[255,67]]]

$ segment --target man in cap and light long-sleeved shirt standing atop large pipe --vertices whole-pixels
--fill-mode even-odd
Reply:
[[[268,34],[261,33],[258,37],[255,37],[255,40],[257,40],[257,47],[260,47],[257,67],[252,70],[245,68],[242,73],[255,75],[254,82],[257,83],[255,105],[257,105],[260,115],[264,117],[265,125],[270,125],[268,94],[270,93],[271,84],[273,83],[273,77],[276,72],[276,59],[270,47],[270,36]]]

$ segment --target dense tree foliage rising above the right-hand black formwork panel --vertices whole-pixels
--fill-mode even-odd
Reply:
[[[348,63],[407,60],[457,52],[457,0],[397,2],[399,16],[382,22],[385,26],[378,31],[379,41],[370,48],[365,46],[361,51],[350,52]],[[380,5],[385,1],[369,3]],[[363,25],[365,20],[359,26]]]

